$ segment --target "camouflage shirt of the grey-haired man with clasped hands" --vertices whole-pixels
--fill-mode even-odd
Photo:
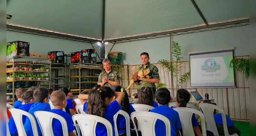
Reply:
[[[119,80],[119,76],[117,74],[117,71],[114,71],[114,70],[111,70],[109,73],[106,72],[106,70],[100,72],[99,74],[99,78],[98,78],[98,83],[101,83],[102,82],[102,79],[106,77],[108,78],[110,81],[115,81],[115,82],[118,82],[120,84],[120,80]],[[112,86],[111,84],[109,83],[105,83],[103,86]]]

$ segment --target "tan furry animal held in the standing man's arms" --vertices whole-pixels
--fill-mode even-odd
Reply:
[[[129,84],[128,88],[126,88],[126,90],[129,90],[133,83],[138,84],[137,77],[140,77],[140,78],[146,77],[147,79],[150,79],[150,77],[148,76],[149,73],[150,73],[149,70],[139,70],[136,73],[134,73],[130,78],[130,84]]]

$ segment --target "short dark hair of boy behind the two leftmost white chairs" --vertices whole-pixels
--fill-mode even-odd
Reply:
[[[34,91],[33,98],[35,102],[43,102],[45,98],[48,98],[48,89],[44,87],[37,88]]]

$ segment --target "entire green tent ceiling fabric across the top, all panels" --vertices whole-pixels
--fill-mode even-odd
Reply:
[[[249,17],[249,0],[194,0],[210,24]],[[102,39],[103,0],[8,0],[9,23]],[[190,0],[106,0],[105,39],[204,24]]]

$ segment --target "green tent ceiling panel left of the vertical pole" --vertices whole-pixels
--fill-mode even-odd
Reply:
[[[9,0],[8,22],[101,39],[102,0]]]

